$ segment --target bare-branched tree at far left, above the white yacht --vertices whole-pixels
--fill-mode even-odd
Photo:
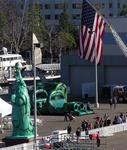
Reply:
[[[13,2],[7,0],[4,2],[0,1],[0,32],[3,33],[1,34],[1,44],[7,44],[8,47],[13,47],[16,53],[20,52],[27,35],[27,25],[25,20],[26,0],[24,3],[23,1],[21,2],[22,3],[19,3],[18,6],[15,6]],[[20,7],[22,4],[24,4],[23,9]]]

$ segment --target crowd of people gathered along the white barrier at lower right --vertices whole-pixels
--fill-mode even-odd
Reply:
[[[75,131],[77,141],[79,141],[79,137],[81,136],[81,131],[85,131],[85,134],[89,135],[89,130],[91,130],[91,129],[101,128],[101,127],[110,126],[110,125],[114,125],[114,124],[121,124],[121,123],[126,122],[126,120],[127,120],[126,115],[124,115],[123,113],[120,113],[119,115],[115,116],[113,121],[111,121],[108,114],[105,114],[103,117],[100,117],[97,115],[93,119],[95,120],[93,124],[92,124],[92,122],[90,122],[89,120],[86,120],[86,119],[84,119],[81,122],[81,126],[79,126]],[[71,127],[70,123],[67,126],[67,133],[68,134],[72,133],[72,127]],[[100,146],[99,133],[97,134],[96,142],[97,142],[97,147],[99,147]]]

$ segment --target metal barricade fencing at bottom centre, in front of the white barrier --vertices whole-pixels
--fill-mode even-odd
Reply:
[[[75,135],[60,135],[57,138],[52,136],[51,139],[44,144],[44,142],[39,141],[38,148],[46,150],[50,148],[51,150],[107,150],[107,138],[102,137],[100,139],[100,146],[97,146],[96,139],[91,140],[89,136],[77,138]],[[49,137],[48,137],[49,138]],[[54,142],[55,141],[55,142]]]

